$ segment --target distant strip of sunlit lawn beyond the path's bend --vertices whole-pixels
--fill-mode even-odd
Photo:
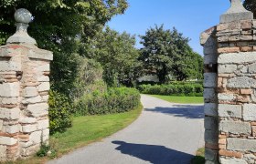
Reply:
[[[162,95],[150,95],[153,97],[157,97],[163,99],[165,101],[169,101],[172,103],[180,103],[180,104],[202,104],[204,103],[204,97],[177,97],[177,96],[162,96]]]

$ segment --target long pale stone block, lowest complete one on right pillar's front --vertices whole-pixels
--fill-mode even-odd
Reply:
[[[227,149],[256,152],[256,140],[247,138],[227,138]]]

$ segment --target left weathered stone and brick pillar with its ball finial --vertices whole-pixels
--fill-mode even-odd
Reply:
[[[0,46],[0,160],[31,156],[48,144],[49,63],[52,53],[27,35],[31,14],[15,14],[16,34]]]

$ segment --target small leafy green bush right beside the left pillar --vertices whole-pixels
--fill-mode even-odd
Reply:
[[[49,92],[49,129],[50,134],[71,127],[70,105],[68,97],[56,91]]]

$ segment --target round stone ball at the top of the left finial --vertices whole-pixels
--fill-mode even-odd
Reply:
[[[32,14],[25,8],[16,10],[15,20],[17,23],[29,24],[33,20]]]

